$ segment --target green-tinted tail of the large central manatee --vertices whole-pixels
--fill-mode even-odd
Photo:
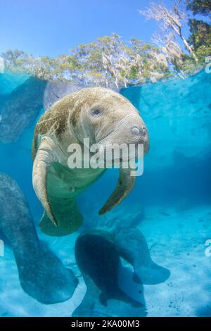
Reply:
[[[56,227],[44,211],[39,227],[42,232],[52,237],[62,237],[75,232],[82,225],[82,215],[77,208],[76,199],[49,197],[53,214],[56,217]]]

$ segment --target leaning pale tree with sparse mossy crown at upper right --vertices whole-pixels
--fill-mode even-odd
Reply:
[[[180,1],[179,1],[180,3]],[[178,3],[178,5],[179,5]],[[168,32],[172,30],[174,36],[179,36],[179,38],[184,43],[187,51],[193,56],[195,61],[198,61],[196,54],[193,51],[193,47],[188,44],[187,40],[184,38],[184,35],[181,32],[182,22],[186,20],[186,14],[179,11],[179,8],[174,6],[172,10],[166,8],[162,4],[152,3],[150,7],[146,8],[145,11],[139,11],[142,15],[146,16],[148,20],[157,20],[162,23],[162,29]]]

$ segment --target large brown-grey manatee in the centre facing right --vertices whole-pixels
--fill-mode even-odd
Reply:
[[[95,182],[105,169],[68,167],[68,146],[84,138],[106,150],[108,144],[143,144],[148,151],[148,131],[139,112],[116,92],[87,88],[65,96],[39,119],[32,147],[33,187],[44,207],[40,227],[46,235],[63,236],[82,225],[77,196]],[[102,152],[104,155],[104,151]],[[102,156],[101,154],[99,154]],[[120,204],[134,187],[131,169],[120,167],[120,179],[99,214]]]

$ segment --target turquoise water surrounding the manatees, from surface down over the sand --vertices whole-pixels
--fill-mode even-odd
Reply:
[[[1,74],[1,104],[26,79],[24,75]],[[114,302],[111,315],[211,316],[211,257],[205,254],[205,242],[211,239],[210,86],[211,75],[202,71],[186,80],[121,91],[139,109],[148,127],[151,147],[144,158],[144,173],[129,197],[106,216],[98,216],[98,210],[115,187],[117,170],[108,170],[84,192],[79,197],[84,215],[79,233],[95,228],[112,232],[117,226],[136,227],[143,233],[153,261],[170,270],[170,277],[159,284],[138,286],[132,280],[132,267],[123,261],[127,271],[119,275],[121,288],[143,304],[144,312],[120,308]],[[31,142],[42,112],[40,108],[34,113],[15,142],[0,144],[0,173],[18,182],[36,225],[42,209],[32,189]],[[0,121],[0,130],[1,125],[4,123]],[[56,239],[37,231],[63,264],[73,270],[79,285],[72,299],[58,304],[41,304],[25,294],[11,247],[0,232],[6,244],[5,255],[0,257],[0,316],[71,316],[84,297],[86,286],[74,254],[79,233]],[[98,313],[103,316],[108,311]]]

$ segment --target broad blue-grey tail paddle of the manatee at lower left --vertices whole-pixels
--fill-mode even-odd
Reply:
[[[14,254],[24,292],[41,304],[57,304],[72,297],[77,278],[44,243],[39,243],[39,249],[30,247],[24,255],[18,249]]]

